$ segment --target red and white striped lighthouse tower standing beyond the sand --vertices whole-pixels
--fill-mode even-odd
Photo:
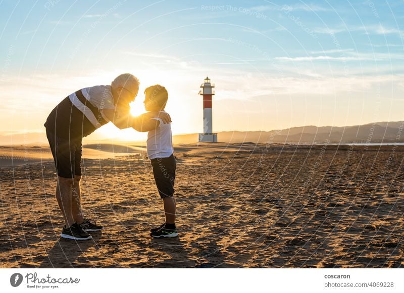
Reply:
[[[212,96],[215,94],[211,80],[206,77],[204,83],[200,85],[199,95],[204,97],[204,133],[199,133],[200,142],[217,142],[218,134],[212,130]]]

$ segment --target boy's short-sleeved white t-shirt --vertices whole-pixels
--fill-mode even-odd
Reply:
[[[164,124],[163,120],[158,117],[151,119],[159,120],[160,124],[156,130],[147,133],[147,157],[150,160],[168,158],[174,153],[171,123]]]

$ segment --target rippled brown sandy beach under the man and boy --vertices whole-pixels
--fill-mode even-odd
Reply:
[[[60,239],[45,147],[0,148],[3,268],[404,266],[404,146],[189,144],[175,147],[179,237],[164,222],[144,148],[83,149],[93,240]]]

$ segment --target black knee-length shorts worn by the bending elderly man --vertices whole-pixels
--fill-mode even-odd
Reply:
[[[46,129],[58,176],[74,178],[81,176],[82,138],[63,138]]]

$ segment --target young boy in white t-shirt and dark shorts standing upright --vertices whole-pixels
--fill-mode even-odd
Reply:
[[[168,93],[165,87],[155,85],[144,90],[144,108],[148,112],[162,111],[166,107]],[[174,198],[175,157],[173,154],[173,138],[171,123],[164,124],[159,117],[142,119],[136,123],[135,130],[148,131],[147,157],[153,166],[157,189],[163,199],[165,223],[150,230],[150,236],[155,238],[178,236],[175,227],[176,202]]]

